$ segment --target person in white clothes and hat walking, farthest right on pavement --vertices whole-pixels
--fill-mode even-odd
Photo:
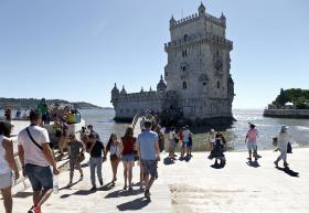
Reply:
[[[281,130],[279,132],[278,137],[278,150],[280,151],[280,156],[277,158],[277,160],[274,162],[276,167],[278,167],[278,162],[280,160],[284,161],[284,167],[287,168],[289,164],[287,162],[287,147],[288,142],[290,142],[291,136],[288,132],[287,126],[281,126]]]

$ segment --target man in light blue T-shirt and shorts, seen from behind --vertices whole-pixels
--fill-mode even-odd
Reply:
[[[158,134],[151,131],[151,121],[145,121],[145,131],[138,136],[137,149],[145,174],[145,198],[150,200],[150,189],[158,178],[160,148]],[[150,174],[150,179],[149,179]]]

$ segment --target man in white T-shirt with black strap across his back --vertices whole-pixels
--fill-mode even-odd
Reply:
[[[18,136],[18,149],[23,175],[28,175],[33,189],[33,206],[29,213],[41,213],[53,191],[53,174],[57,175],[60,171],[49,146],[49,132],[40,127],[42,116],[39,110],[30,113],[30,123]]]

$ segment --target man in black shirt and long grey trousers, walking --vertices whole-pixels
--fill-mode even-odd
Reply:
[[[97,170],[98,182],[100,185],[103,185],[102,163],[106,159],[106,152],[105,152],[104,145],[100,141],[96,140],[96,136],[94,134],[90,134],[88,138],[89,138],[89,142],[87,143],[87,152],[90,153],[89,166],[90,166],[90,179],[93,184],[92,190],[96,190],[95,170]]]

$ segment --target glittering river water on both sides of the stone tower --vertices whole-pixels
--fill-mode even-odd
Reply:
[[[102,140],[107,142],[111,132],[121,137],[126,128],[130,124],[119,124],[114,121],[114,109],[82,109],[83,119],[86,124],[93,124],[95,130],[99,134]],[[0,111],[2,117],[3,111]],[[273,137],[276,137],[281,125],[289,126],[289,131],[292,136],[294,147],[309,146],[309,119],[283,119],[283,118],[265,118],[262,109],[234,109],[233,115],[235,121],[231,128],[223,130],[223,135],[228,141],[230,149],[245,150],[244,138],[248,130],[248,123],[257,126],[259,131],[258,149],[271,149]],[[211,127],[209,127],[211,128]],[[207,139],[206,130],[195,134],[193,130],[193,151],[205,150],[205,141]]]

